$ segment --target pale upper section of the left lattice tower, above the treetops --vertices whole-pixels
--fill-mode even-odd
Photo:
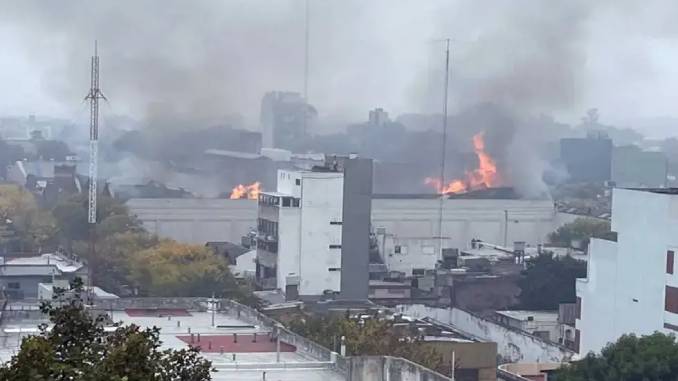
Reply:
[[[89,101],[89,198],[88,218],[90,224],[97,223],[97,173],[99,150],[99,99],[106,99],[99,88],[99,54],[97,42],[94,42],[92,56],[91,86],[85,97]]]

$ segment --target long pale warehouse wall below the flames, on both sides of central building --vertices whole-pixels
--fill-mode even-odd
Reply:
[[[181,242],[240,242],[256,228],[256,200],[131,199],[127,206],[151,233]],[[401,237],[433,237],[438,206],[436,199],[373,199],[372,226]],[[443,220],[443,235],[459,248],[472,238],[503,244],[505,231],[509,244],[534,245],[561,223],[549,200],[445,200]]]

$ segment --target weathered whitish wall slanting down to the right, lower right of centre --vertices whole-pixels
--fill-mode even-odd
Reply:
[[[432,308],[424,305],[397,307],[406,315],[430,317],[450,324],[482,341],[497,343],[497,354],[502,362],[560,362],[570,359],[574,352],[569,349],[528,335],[520,330],[506,327],[458,308]]]

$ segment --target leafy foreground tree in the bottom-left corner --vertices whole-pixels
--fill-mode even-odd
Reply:
[[[163,350],[159,329],[116,325],[104,331],[105,317],[93,317],[82,299],[82,281],[70,292],[56,290],[40,309],[52,328],[22,340],[19,352],[0,367],[0,379],[73,381],[206,381],[212,364],[196,349]]]

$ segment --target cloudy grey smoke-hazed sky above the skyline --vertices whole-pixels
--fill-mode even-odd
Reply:
[[[675,1],[309,0],[309,102],[364,120],[501,103],[576,122],[678,117]],[[105,112],[258,124],[302,91],[304,0],[0,0],[0,115],[80,118],[97,39]]]

